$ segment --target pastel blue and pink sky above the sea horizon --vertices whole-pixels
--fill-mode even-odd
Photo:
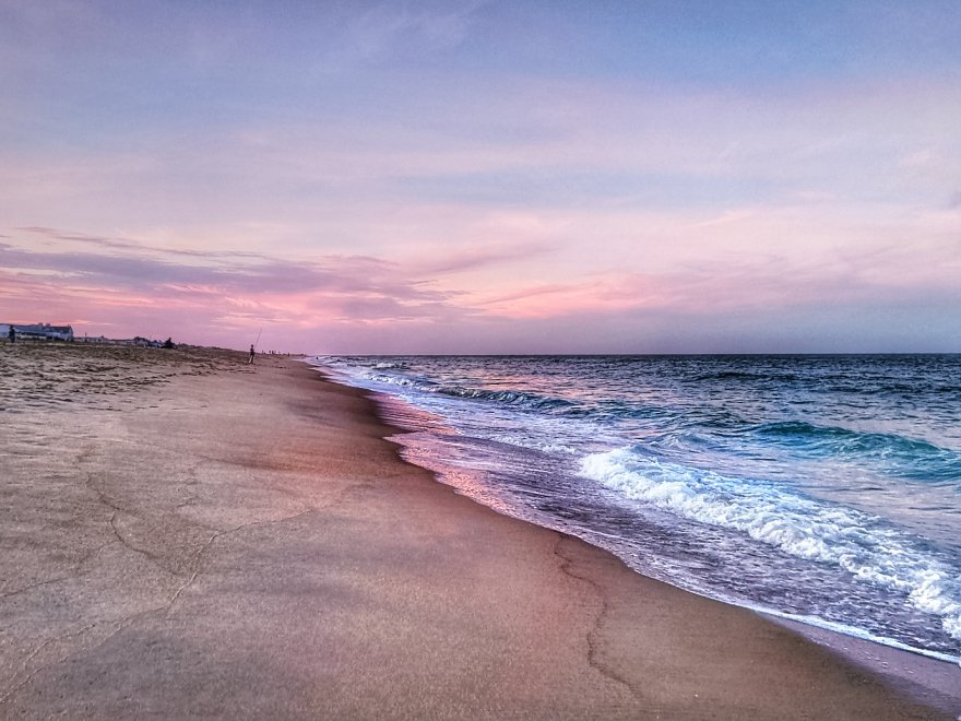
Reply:
[[[0,0],[0,321],[961,352],[957,0]]]

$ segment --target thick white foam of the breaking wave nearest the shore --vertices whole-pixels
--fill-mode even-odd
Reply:
[[[901,591],[961,640],[961,580],[936,552],[879,518],[771,482],[687,468],[630,448],[589,454],[580,470],[632,500],[740,531],[792,556],[832,564],[859,581]]]

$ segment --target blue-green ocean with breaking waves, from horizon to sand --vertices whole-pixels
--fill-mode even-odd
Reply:
[[[961,355],[318,357],[404,456],[697,593],[961,661]]]

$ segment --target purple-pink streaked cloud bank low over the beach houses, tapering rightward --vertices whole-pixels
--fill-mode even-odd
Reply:
[[[21,232],[23,234],[23,232]],[[17,319],[31,308],[121,322],[132,331],[144,310],[188,316],[181,329],[262,324],[284,318],[292,327],[330,322],[388,323],[464,315],[447,293],[432,289],[395,263],[360,256],[289,260],[252,252],[180,251],[129,239],[29,228],[79,249],[44,250],[0,245],[0,298]],[[34,310],[35,312],[36,310]],[[103,321],[100,321],[103,322]],[[142,332],[146,332],[145,330]],[[216,331],[213,331],[216,332]],[[163,334],[163,333],[161,333]]]

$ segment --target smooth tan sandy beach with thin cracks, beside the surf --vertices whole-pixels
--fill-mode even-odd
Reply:
[[[961,712],[956,667],[873,672],[456,495],[297,359],[0,345],[0,718]]]

